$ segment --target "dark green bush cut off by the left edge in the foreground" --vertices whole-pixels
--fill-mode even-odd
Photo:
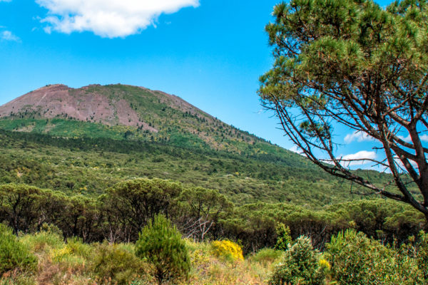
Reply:
[[[37,259],[21,244],[9,227],[0,224],[0,276],[7,271],[31,271],[37,266]]]

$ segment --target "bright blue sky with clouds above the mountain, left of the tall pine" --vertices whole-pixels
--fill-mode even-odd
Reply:
[[[0,0],[0,105],[46,84],[131,84],[289,149],[256,93],[272,65],[264,27],[278,2]],[[370,144],[346,142],[344,155]]]

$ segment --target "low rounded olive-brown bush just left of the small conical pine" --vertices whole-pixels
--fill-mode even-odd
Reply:
[[[143,274],[144,264],[141,259],[121,244],[99,244],[93,252],[91,271],[97,279],[111,280],[118,285],[131,284]]]

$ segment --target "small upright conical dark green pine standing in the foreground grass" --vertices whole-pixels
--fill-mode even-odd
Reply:
[[[181,234],[163,215],[156,215],[140,233],[136,254],[153,266],[158,284],[174,279],[186,279],[190,258]]]

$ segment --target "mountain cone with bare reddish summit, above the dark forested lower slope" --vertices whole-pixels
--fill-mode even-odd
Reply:
[[[227,125],[175,95],[121,84],[34,90],[0,106],[0,128],[63,138],[161,142],[312,167],[300,155]]]

